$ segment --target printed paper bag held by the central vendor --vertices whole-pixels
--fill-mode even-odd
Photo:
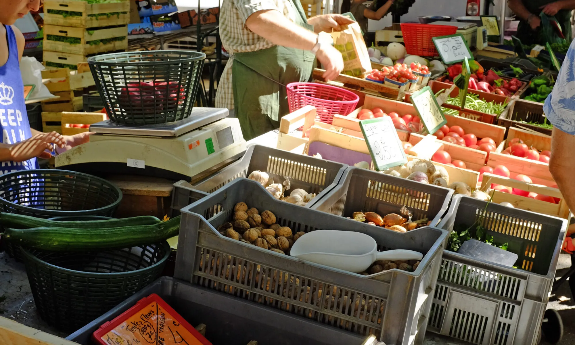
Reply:
[[[363,79],[367,72],[371,72],[371,60],[357,22],[343,26],[342,31],[332,32],[331,37],[333,46],[343,56],[342,74]]]

